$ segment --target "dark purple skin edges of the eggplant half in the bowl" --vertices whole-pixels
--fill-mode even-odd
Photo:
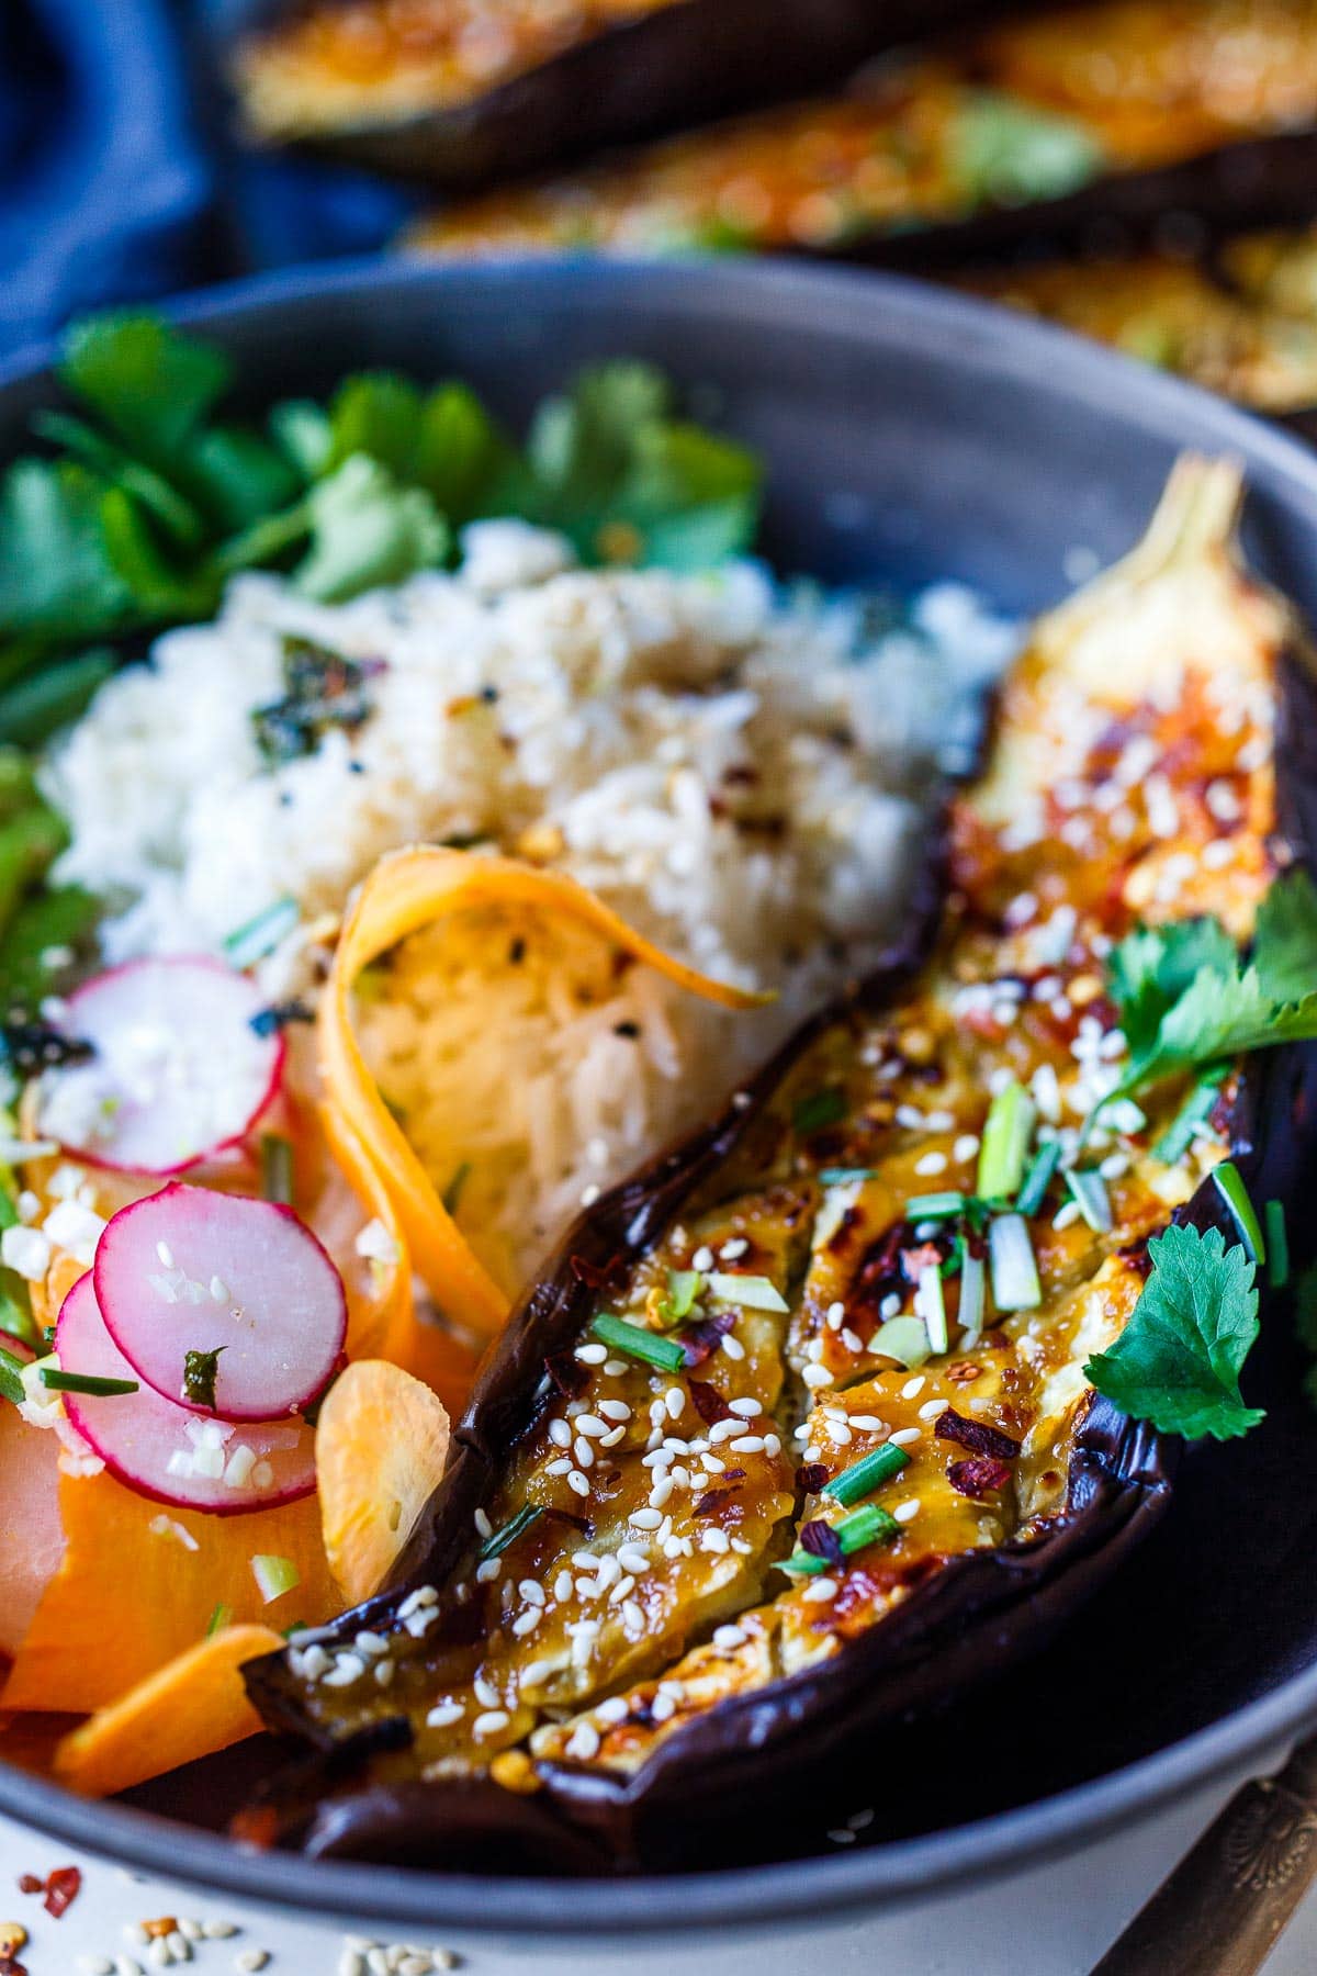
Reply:
[[[1278,838],[1293,860],[1317,869],[1317,684],[1297,646],[1278,656],[1276,715]],[[507,1450],[545,1405],[545,1358],[579,1340],[596,1308],[600,1273],[646,1255],[679,1215],[699,1209],[701,1190],[727,1188],[729,1176],[735,1184],[742,1164],[754,1170],[770,1101],[796,1061],[829,1024],[857,1006],[894,1004],[918,978],[944,889],[942,858],[930,858],[910,943],[812,1018],[748,1087],[748,1103],[733,1105],[616,1188],[573,1229],[557,1265],[494,1346],[454,1433],[444,1482],[399,1559],[393,1587],[340,1620],[334,1636],[349,1638],[395,1612],[411,1587],[444,1583],[470,1555],[474,1512],[492,1500]],[[1303,1263],[1313,1243],[1311,1217],[1299,1209],[1317,1178],[1317,1045],[1268,1051],[1242,1067],[1226,1138],[1252,1197],[1289,1209],[1295,1261]],[[1175,1219],[1236,1239],[1210,1180]],[[245,1668],[253,1701],[271,1727],[314,1747],[294,1774],[272,1780],[241,1830],[314,1855],[430,1865],[456,1857],[565,1873],[693,1865],[717,1848],[729,1816],[748,1820],[764,1806],[782,1806],[788,1792],[798,1796],[806,1770],[825,1769],[857,1737],[873,1739],[900,1717],[942,1707],[1039,1652],[1165,1512],[1179,1450],[1179,1441],[1092,1395],[1070,1441],[1064,1496],[1031,1535],[926,1559],[928,1569],[879,1624],[821,1664],[721,1699],[659,1741],[630,1776],[541,1759],[529,1798],[472,1780],[391,1780],[389,1757],[383,1767],[373,1759],[395,1733],[395,1747],[403,1747],[407,1721],[383,1715],[355,1741],[336,1741],[332,1727],[308,1713],[288,1656],[267,1656]]]

